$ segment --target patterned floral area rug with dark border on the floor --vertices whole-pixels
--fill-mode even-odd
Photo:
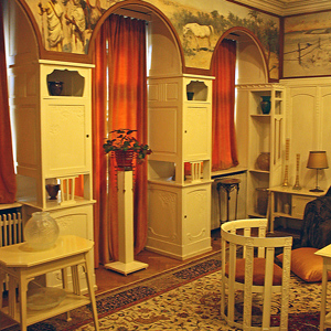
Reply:
[[[99,295],[100,330],[235,330],[220,317],[220,254],[213,254],[130,287]],[[320,295],[320,284],[306,284],[296,276],[291,277],[289,331],[319,330]],[[331,302],[331,297],[328,302]],[[241,310],[238,305],[238,319]],[[273,325],[278,325],[277,299],[271,314]],[[29,331],[95,330],[88,307],[76,309],[71,316],[71,322],[66,322],[63,314],[31,325]],[[253,319],[256,324],[260,316],[261,309],[256,300]]]

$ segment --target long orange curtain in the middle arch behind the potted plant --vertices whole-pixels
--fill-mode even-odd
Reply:
[[[111,14],[95,43],[94,188],[97,260],[118,259],[117,172],[102,148],[107,132],[137,129],[147,142],[146,26],[143,21]],[[147,162],[135,168],[135,253],[147,239]]]

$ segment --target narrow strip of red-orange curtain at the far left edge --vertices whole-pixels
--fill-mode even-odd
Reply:
[[[12,141],[9,117],[7,65],[2,7],[0,2],[0,203],[15,201],[17,182],[13,167]]]

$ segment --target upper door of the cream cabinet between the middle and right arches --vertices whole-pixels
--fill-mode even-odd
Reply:
[[[190,106],[184,111],[184,160],[210,157],[210,105]]]

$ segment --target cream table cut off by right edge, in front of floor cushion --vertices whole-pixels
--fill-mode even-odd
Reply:
[[[327,291],[328,291],[328,271],[331,271],[331,245],[314,253],[323,258],[322,274],[322,295],[321,295],[321,313],[320,313],[320,331],[331,327],[331,312],[325,316]]]

